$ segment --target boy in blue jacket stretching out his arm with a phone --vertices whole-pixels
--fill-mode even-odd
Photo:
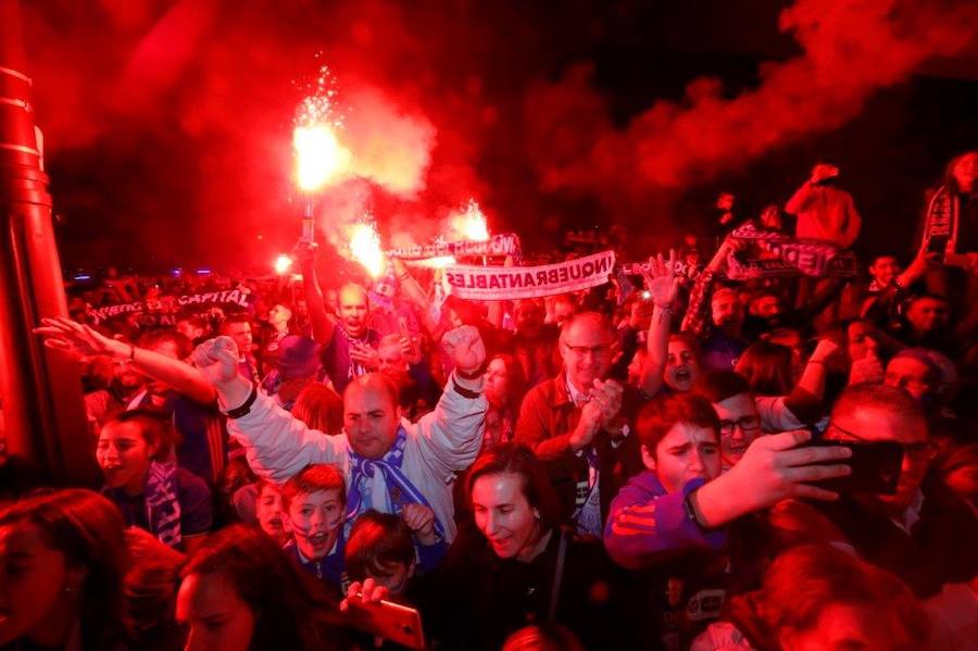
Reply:
[[[806,465],[841,461],[848,450],[798,449],[811,435],[787,431],[754,439],[722,474],[722,427],[701,396],[675,393],[648,402],[636,423],[647,470],[612,501],[604,529],[609,555],[644,573],[641,583],[649,592],[639,599],[655,609],[659,596],[666,596],[662,643],[670,650],[688,649],[719,615],[729,525],[786,498],[832,499],[806,483],[848,473],[844,465]]]

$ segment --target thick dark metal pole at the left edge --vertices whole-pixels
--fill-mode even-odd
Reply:
[[[18,1],[0,0],[0,401],[11,453],[57,483],[86,483],[95,475],[78,367],[32,333],[67,304],[25,63]]]

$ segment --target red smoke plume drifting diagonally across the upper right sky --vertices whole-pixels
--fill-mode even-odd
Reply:
[[[841,126],[875,91],[964,49],[976,26],[974,3],[799,0],[781,13],[780,28],[802,55],[765,64],[760,85],[732,99],[718,79],[695,79],[681,102],[656,102],[624,129],[590,86],[590,67],[578,65],[527,96],[535,165],[544,187],[609,202],[702,183]]]

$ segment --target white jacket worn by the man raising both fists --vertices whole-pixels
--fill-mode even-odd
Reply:
[[[452,483],[479,453],[489,409],[485,395],[465,398],[454,388],[454,379],[450,379],[434,412],[417,423],[402,422],[408,442],[401,472],[428,500],[448,542],[455,536]],[[331,463],[343,472],[350,488],[347,435],[328,436],[310,429],[261,391],[247,415],[228,420],[227,429],[262,478],[283,484],[311,463]],[[390,512],[383,473],[375,473],[372,481],[374,506]]]

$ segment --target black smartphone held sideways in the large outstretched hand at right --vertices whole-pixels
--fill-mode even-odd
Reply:
[[[830,441],[818,440],[808,447],[842,447],[852,450],[852,456],[844,461],[830,461],[825,465],[845,463],[852,474],[845,477],[823,479],[816,485],[828,490],[844,493],[893,494],[900,481],[903,465],[903,447],[892,441]]]

